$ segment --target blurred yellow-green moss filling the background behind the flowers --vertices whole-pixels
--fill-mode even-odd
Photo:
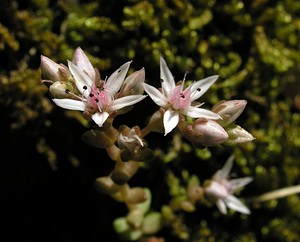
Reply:
[[[245,197],[297,185],[299,16],[300,2],[294,0],[2,0],[1,138],[7,146],[20,150],[24,148],[21,142],[31,142],[26,148],[36,152],[43,162],[48,161],[53,170],[60,169],[60,162],[65,160],[80,170],[87,148],[79,137],[88,124],[81,114],[54,107],[47,88],[40,83],[40,55],[66,64],[80,46],[102,76],[132,59],[131,71],[145,67],[146,80],[153,85],[159,83],[162,55],[176,80],[186,71],[188,80],[220,75],[204,96],[205,105],[211,107],[222,99],[246,99],[247,107],[237,122],[256,140],[236,147],[200,150],[185,140],[180,140],[180,147],[176,148],[176,142],[162,141],[154,135],[156,142],[151,143],[150,139],[150,147],[157,148],[158,157],[165,163],[156,164],[154,171],[149,165],[149,170],[141,172],[152,175],[146,179],[150,185],[139,174],[136,182],[140,179],[145,186],[156,189],[156,208],[167,200],[166,195],[162,196],[164,201],[155,198],[166,192],[165,186],[158,185],[165,182],[166,170],[174,170],[176,179],[187,170],[201,180],[219,169],[231,153],[236,155],[237,176],[254,177],[254,182],[243,191]],[[150,114],[143,110],[134,113],[136,120],[127,117],[127,121],[133,125],[140,120],[146,122],[145,117]],[[165,147],[167,152],[159,147]],[[110,165],[106,166],[90,176],[105,174]],[[155,171],[161,170],[159,177]],[[158,177],[160,181],[152,181]],[[153,184],[158,187],[151,187]],[[164,230],[161,236],[166,241],[181,241],[178,235],[184,227],[189,233],[188,241],[300,240],[299,196],[249,207],[252,215],[248,217],[220,216],[215,207],[200,207],[193,215],[182,212],[177,230]],[[176,231],[181,232],[176,235]]]

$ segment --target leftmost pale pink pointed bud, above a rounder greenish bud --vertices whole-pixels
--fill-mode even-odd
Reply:
[[[70,73],[63,65],[59,65],[50,58],[41,55],[42,76],[52,82],[66,81],[70,77]]]

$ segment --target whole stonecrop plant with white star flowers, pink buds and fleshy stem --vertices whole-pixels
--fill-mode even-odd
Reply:
[[[229,179],[233,159],[229,158],[224,167],[212,179],[200,185],[199,178],[189,178],[182,193],[172,192],[169,204],[162,205],[161,211],[151,209],[151,191],[147,187],[131,187],[128,181],[144,163],[155,158],[146,136],[151,132],[163,133],[168,138],[172,133],[184,137],[195,147],[234,145],[248,142],[254,137],[235,124],[243,112],[245,100],[221,101],[211,110],[202,108],[199,98],[218,79],[210,76],[185,86],[185,78],[175,83],[163,57],[160,58],[161,88],[156,89],[145,83],[145,70],[141,68],[126,77],[131,61],[125,62],[108,78],[103,80],[100,71],[93,67],[81,48],[75,50],[73,60],[58,64],[41,56],[42,83],[49,86],[53,102],[64,109],[81,111],[83,117],[93,124],[83,135],[83,140],[94,147],[105,149],[108,157],[115,162],[109,175],[95,180],[95,187],[112,199],[124,203],[128,214],[116,218],[115,231],[129,240],[143,239],[155,235],[162,227],[177,228],[182,221],[177,211],[194,212],[196,204],[216,203],[222,214],[227,207],[249,214],[250,210],[233,194],[248,184],[252,178]],[[128,127],[114,126],[117,115],[129,112],[135,104],[149,97],[159,106],[147,125]],[[147,118],[147,117],[146,117]],[[170,190],[179,182],[168,173]],[[178,189],[177,189],[178,190]],[[177,230],[176,230],[177,231]],[[187,233],[178,237],[187,239]]]

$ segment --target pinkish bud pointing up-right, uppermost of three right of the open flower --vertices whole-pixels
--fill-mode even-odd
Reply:
[[[244,111],[246,100],[220,101],[212,107],[212,111],[219,114],[222,119],[218,121],[222,126],[233,123]]]

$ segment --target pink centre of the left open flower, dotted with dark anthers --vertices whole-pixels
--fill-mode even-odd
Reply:
[[[103,85],[102,88],[93,85],[87,97],[87,104],[93,109],[99,109],[99,111],[102,112],[104,108],[110,105],[112,100],[113,98],[105,85]]]

